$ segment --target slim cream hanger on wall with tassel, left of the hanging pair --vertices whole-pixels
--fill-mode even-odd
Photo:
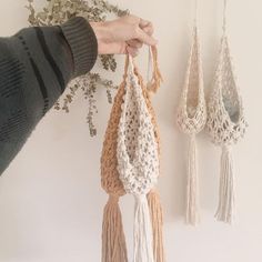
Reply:
[[[204,128],[205,121],[206,107],[198,29],[198,0],[195,0],[192,47],[177,118],[180,130],[189,135],[185,221],[192,225],[200,220],[195,135]]]

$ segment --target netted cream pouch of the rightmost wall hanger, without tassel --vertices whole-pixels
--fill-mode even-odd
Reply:
[[[215,144],[231,145],[244,135],[246,121],[226,36],[221,40],[219,63],[208,109],[206,129]]]

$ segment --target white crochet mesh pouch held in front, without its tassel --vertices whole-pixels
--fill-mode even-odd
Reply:
[[[131,72],[133,72],[132,62]],[[128,193],[147,194],[159,177],[158,143],[139,79],[130,73],[118,131],[118,170]]]

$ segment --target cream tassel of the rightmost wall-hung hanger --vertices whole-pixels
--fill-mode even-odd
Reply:
[[[215,218],[219,221],[232,223],[234,219],[234,167],[231,149],[222,148],[220,170],[220,196]]]

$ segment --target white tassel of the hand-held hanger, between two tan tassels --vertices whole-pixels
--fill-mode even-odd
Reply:
[[[154,262],[152,224],[145,194],[135,195],[133,262]]]

